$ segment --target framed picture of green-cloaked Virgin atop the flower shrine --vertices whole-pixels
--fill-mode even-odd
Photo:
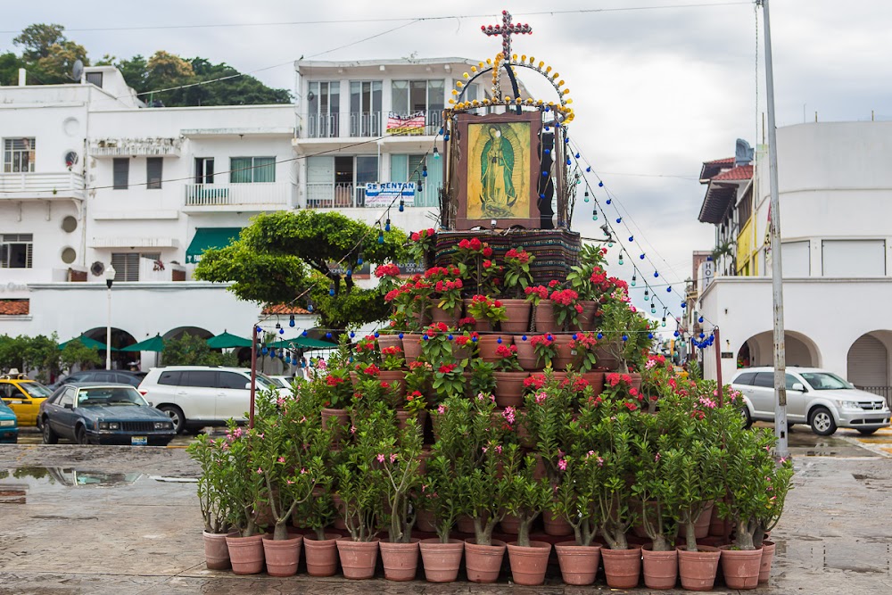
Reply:
[[[456,229],[540,227],[539,112],[458,116]]]

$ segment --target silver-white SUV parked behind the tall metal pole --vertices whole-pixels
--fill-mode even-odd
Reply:
[[[840,376],[821,368],[787,368],[787,419],[789,425],[808,424],[814,434],[829,436],[838,427],[873,434],[889,425],[886,401],[858,390]],[[731,379],[731,388],[743,395],[747,426],[754,420],[774,421],[774,369],[743,368]]]

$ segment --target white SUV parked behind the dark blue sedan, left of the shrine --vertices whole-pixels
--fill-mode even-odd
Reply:
[[[280,388],[268,376],[257,374],[257,390]],[[244,421],[251,405],[251,370],[208,366],[152,368],[139,384],[146,401],[173,420],[177,432],[186,426],[224,426],[228,419]]]

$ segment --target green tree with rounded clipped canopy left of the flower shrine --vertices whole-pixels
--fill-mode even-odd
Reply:
[[[383,232],[379,244],[376,227],[334,211],[263,213],[235,243],[205,252],[195,277],[234,281],[230,290],[250,302],[292,302],[309,289],[322,326],[345,328],[387,314],[381,294],[354,287],[346,270],[359,267],[360,254],[366,263],[403,260],[404,238],[393,229]],[[335,268],[338,262],[342,264]]]

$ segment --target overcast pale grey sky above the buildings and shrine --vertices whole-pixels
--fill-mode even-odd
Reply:
[[[678,6],[708,3],[717,5]],[[738,137],[753,145],[760,142],[765,88],[761,9],[757,40],[751,3],[564,0],[551,4],[561,12],[542,12],[545,5],[530,0],[153,0],[150,9],[149,4],[120,0],[4,3],[0,28],[8,31],[0,33],[0,51],[15,49],[12,37],[29,24],[57,22],[93,59],[103,54],[149,56],[163,49],[228,62],[243,71],[301,55],[318,60],[410,54],[483,60],[500,45],[483,36],[480,25],[498,23],[501,9],[508,8],[516,21],[533,28],[532,36],[515,37],[516,53],[541,58],[566,80],[576,111],[571,136],[615,194],[615,202],[631,215],[625,220],[640,227],[635,238],[657,262],[660,276],[683,293],[682,282],[691,274],[690,252],[713,246],[713,227],[697,221],[704,192],[697,180],[701,162],[730,157]],[[624,10],[609,10],[617,8]],[[772,0],[771,8],[779,126],[804,117],[814,120],[814,112],[822,121],[868,120],[871,110],[878,119],[892,119],[892,61],[883,41],[892,31],[892,6],[881,0]],[[608,10],[572,12],[579,9]],[[446,16],[455,18],[414,22],[354,43],[409,22],[388,19]],[[269,24],[282,22],[302,24]],[[233,23],[264,24],[174,29]],[[127,27],[161,29],[77,30]],[[293,89],[290,64],[255,76]],[[540,88],[531,76],[524,74],[524,82]],[[603,190],[596,195],[605,198]],[[615,211],[607,209],[615,221]],[[591,203],[580,202],[574,228],[583,236],[601,236],[591,224]],[[622,233],[627,237],[624,228]],[[652,278],[653,268],[643,268]],[[615,272],[632,276],[628,264]],[[679,310],[677,298],[660,293]],[[635,302],[643,303],[640,295]]]

